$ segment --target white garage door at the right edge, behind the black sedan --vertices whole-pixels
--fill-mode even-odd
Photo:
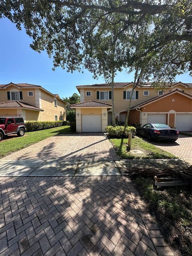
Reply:
[[[192,114],[176,114],[176,129],[192,131]]]

